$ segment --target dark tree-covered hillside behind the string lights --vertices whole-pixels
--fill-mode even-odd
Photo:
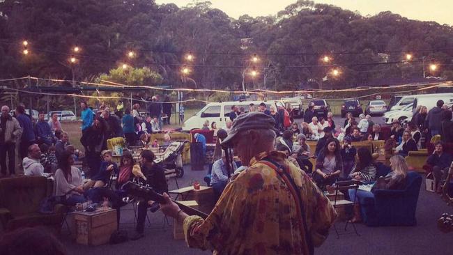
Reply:
[[[153,0],[5,0],[0,13],[0,78],[72,79],[74,70],[76,79],[92,80],[112,69],[114,76],[128,63],[147,68],[140,70],[152,79],[135,80],[146,85],[338,88],[422,77],[423,68],[428,72],[436,63],[434,75],[452,79],[452,26],[390,12],[364,17],[300,0],[275,16],[235,20],[208,1],[178,8]],[[26,56],[23,40],[29,42]],[[72,52],[75,45],[80,52]],[[136,53],[134,59],[128,51]],[[188,52],[193,62],[184,59]],[[259,63],[251,63],[253,54]],[[402,63],[406,54],[413,59]],[[332,62],[324,65],[323,55]],[[184,65],[191,70],[186,77]],[[254,78],[248,75],[252,68]],[[332,68],[341,75],[334,77]]]

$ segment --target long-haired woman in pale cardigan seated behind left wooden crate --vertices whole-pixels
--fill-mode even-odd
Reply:
[[[63,201],[67,206],[75,206],[76,203],[84,203],[84,185],[82,173],[74,164],[72,153],[63,151],[59,158],[59,169],[55,172],[55,195],[64,196]]]

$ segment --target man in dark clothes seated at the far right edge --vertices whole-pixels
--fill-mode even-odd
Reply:
[[[443,151],[443,142],[438,141],[433,154],[429,155],[427,164],[433,167],[433,175],[436,178],[436,192],[442,192],[442,186],[447,178],[448,169],[452,164],[453,157]]]

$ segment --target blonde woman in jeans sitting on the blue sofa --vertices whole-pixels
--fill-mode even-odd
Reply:
[[[374,197],[373,190],[404,190],[406,188],[406,176],[408,173],[408,165],[404,157],[394,155],[390,157],[390,167],[392,171],[385,177],[379,177],[376,183],[371,188],[371,192],[365,190],[349,190],[349,198],[354,203],[354,217],[353,222],[360,222],[362,217],[360,215],[360,204],[364,198]]]

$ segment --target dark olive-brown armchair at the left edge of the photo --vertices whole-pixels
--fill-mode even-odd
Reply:
[[[66,206],[40,212],[40,204],[53,194],[53,180],[41,176],[0,179],[0,223],[5,231],[21,227],[49,226],[59,233]]]

